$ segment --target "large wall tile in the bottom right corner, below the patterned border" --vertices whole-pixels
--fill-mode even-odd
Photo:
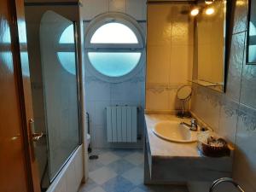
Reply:
[[[234,177],[247,192],[256,191],[256,110],[240,105]]]

